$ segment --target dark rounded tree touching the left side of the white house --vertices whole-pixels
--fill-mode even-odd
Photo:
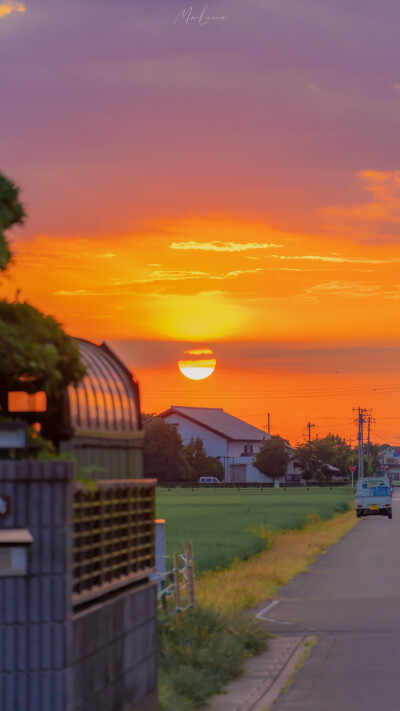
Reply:
[[[185,457],[182,438],[174,425],[161,418],[144,427],[144,470],[159,481],[190,481],[192,470]]]

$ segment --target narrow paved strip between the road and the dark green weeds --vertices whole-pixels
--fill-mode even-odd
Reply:
[[[249,659],[243,676],[201,711],[268,711],[301,658],[306,639],[270,638],[267,651]]]

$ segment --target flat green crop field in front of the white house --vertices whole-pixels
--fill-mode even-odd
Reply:
[[[196,572],[226,568],[266,550],[265,534],[302,528],[349,509],[351,487],[340,489],[157,489],[157,518],[165,519],[166,553],[193,543]],[[167,564],[167,568],[172,567]]]

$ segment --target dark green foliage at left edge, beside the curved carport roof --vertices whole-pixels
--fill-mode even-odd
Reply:
[[[23,222],[25,211],[19,188],[0,173],[0,269],[11,258],[5,231]],[[0,301],[0,387],[11,389],[24,381],[28,392],[45,390],[58,395],[85,375],[74,341],[51,316],[30,304]]]

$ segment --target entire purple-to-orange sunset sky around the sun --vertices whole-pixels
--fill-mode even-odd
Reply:
[[[0,0],[3,297],[107,340],[147,411],[295,443],[361,406],[399,443],[399,27],[397,0]]]

